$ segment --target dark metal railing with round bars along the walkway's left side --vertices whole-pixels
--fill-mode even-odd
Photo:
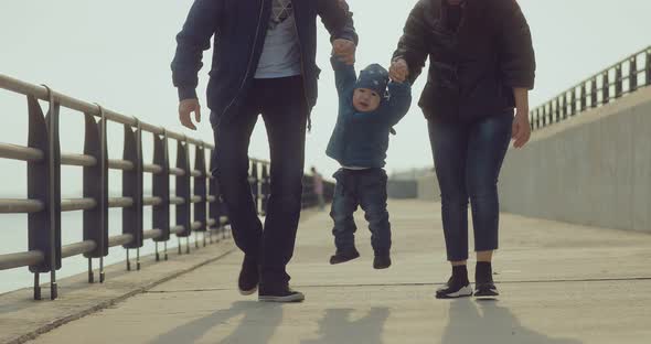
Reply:
[[[99,282],[105,281],[104,257],[109,247],[127,249],[127,270],[131,270],[129,250],[136,250],[136,269],[140,269],[140,248],[145,240],[156,243],[156,260],[168,260],[167,244],[172,235],[179,239],[178,254],[183,254],[181,238],[186,238],[185,252],[190,252],[190,237],[199,233],[213,243],[213,235],[226,237],[227,209],[220,198],[220,189],[206,170],[206,153],[214,147],[164,128],[146,123],[90,104],[56,93],[46,86],[31,85],[0,74],[0,88],[26,96],[29,133],[28,146],[0,142],[0,159],[28,163],[28,200],[0,198],[0,213],[28,214],[29,250],[0,255],[0,271],[29,267],[34,273],[34,299],[41,299],[40,273],[50,273],[50,299],[57,298],[56,271],[67,257],[84,255],[88,259],[88,282],[95,281],[93,259],[99,259]],[[39,100],[47,104],[44,114]],[[60,148],[60,109],[65,107],[84,115],[85,142],[83,154],[62,153]],[[109,159],[107,125],[124,126],[122,159]],[[153,136],[153,161],[142,158],[142,132]],[[170,166],[169,140],[177,141],[175,165]],[[194,165],[190,164],[190,148],[194,147]],[[212,162],[211,162],[212,164]],[[62,200],[61,166],[83,168],[83,197]],[[265,214],[269,187],[270,164],[250,160],[249,183],[260,215]],[[109,197],[109,170],[122,174],[122,196]],[[210,169],[213,170],[213,166]],[[152,195],[143,194],[143,174],[152,176]],[[175,193],[170,191],[170,176],[175,179]],[[309,182],[306,175],[306,181]],[[332,190],[328,183],[328,190]],[[314,205],[311,187],[306,186],[303,207]],[[331,192],[329,193],[332,194]],[[330,197],[328,197],[330,198]],[[170,222],[170,206],[174,207],[175,222]],[[152,207],[152,229],[143,227],[143,208]],[[122,208],[122,234],[108,233],[108,209]],[[62,245],[62,212],[83,211],[82,241]],[[158,244],[163,244],[162,252]]]

